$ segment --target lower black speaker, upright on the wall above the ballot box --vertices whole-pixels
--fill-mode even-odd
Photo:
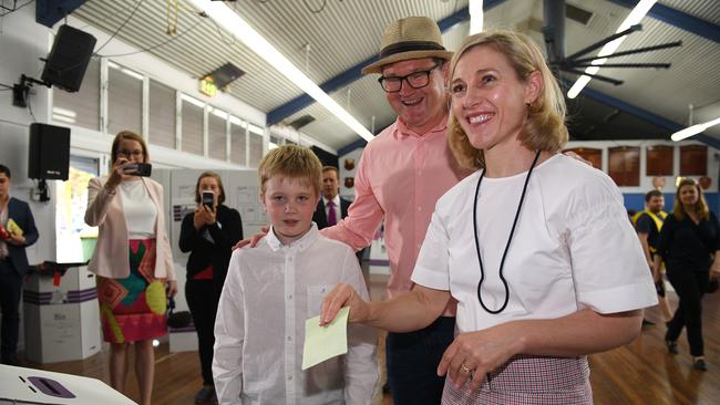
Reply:
[[[30,124],[28,177],[66,180],[70,168],[70,128]]]

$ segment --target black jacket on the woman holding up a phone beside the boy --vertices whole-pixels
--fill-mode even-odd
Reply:
[[[227,267],[230,262],[233,247],[243,239],[243,220],[240,212],[224,205],[217,206],[217,224],[195,230],[193,225],[194,214],[187,214],[183,218],[181,227],[179,248],[183,252],[191,252],[187,258],[187,280],[213,264],[213,284],[217,292],[223,290],[223,283],[227,276]],[[210,243],[203,237],[207,229],[215,243]]]

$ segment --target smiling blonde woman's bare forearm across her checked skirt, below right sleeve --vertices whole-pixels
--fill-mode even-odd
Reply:
[[[599,314],[585,309],[554,320],[508,322],[516,353],[575,357],[631,342],[640,333],[642,310]]]

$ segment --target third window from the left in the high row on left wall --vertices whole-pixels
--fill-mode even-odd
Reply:
[[[151,144],[175,148],[175,90],[154,80],[150,81]]]

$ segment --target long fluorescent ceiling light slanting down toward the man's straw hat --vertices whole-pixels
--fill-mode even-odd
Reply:
[[[312,82],[298,68],[296,68],[285,55],[282,55],[272,44],[263,35],[255,31],[250,24],[240,18],[240,15],[222,1],[210,0],[189,0],[198,9],[207,13],[220,27],[232,32],[237,39],[243,41],[247,48],[257,53],[268,64],[277,69],[300,90],[310,95],[315,101],[320,103],[330,113],[332,113],[341,123],[354,131],[360,137],[370,142],[374,136],[358,120],[340,106],[328,93],[323,92],[320,86]]]

